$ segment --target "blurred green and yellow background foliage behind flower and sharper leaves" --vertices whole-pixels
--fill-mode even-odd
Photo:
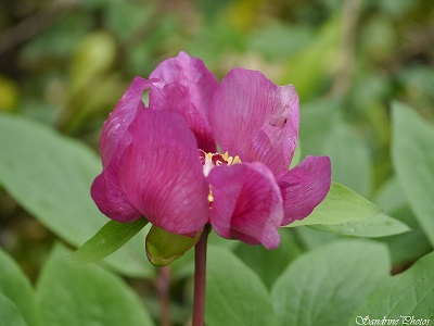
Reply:
[[[98,151],[102,123],[132,77],[146,78],[162,60],[183,50],[217,78],[235,66],[259,70],[297,89],[303,155],[330,155],[335,181],[413,228],[383,240],[400,271],[431,246],[395,178],[391,103],[406,102],[434,122],[433,45],[431,0],[3,0],[0,112],[36,120]],[[35,279],[55,236],[1,187],[0,227],[0,244]],[[291,249],[277,256],[293,259],[336,237],[294,233],[282,240]],[[263,254],[234,251],[267,274],[252,250]],[[267,285],[280,264],[264,276]]]

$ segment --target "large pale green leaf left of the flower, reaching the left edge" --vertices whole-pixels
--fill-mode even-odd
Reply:
[[[47,126],[3,114],[0,153],[0,184],[71,244],[82,244],[107,222],[90,197],[101,164],[85,145]],[[127,275],[152,274],[140,238],[132,239],[106,262]]]

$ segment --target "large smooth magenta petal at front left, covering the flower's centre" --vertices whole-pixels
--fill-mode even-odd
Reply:
[[[208,185],[193,133],[176,114],[142,110],[129,127],[132,141],[119,162],[128,201],[152,224],[191,235],[209,218]]]

